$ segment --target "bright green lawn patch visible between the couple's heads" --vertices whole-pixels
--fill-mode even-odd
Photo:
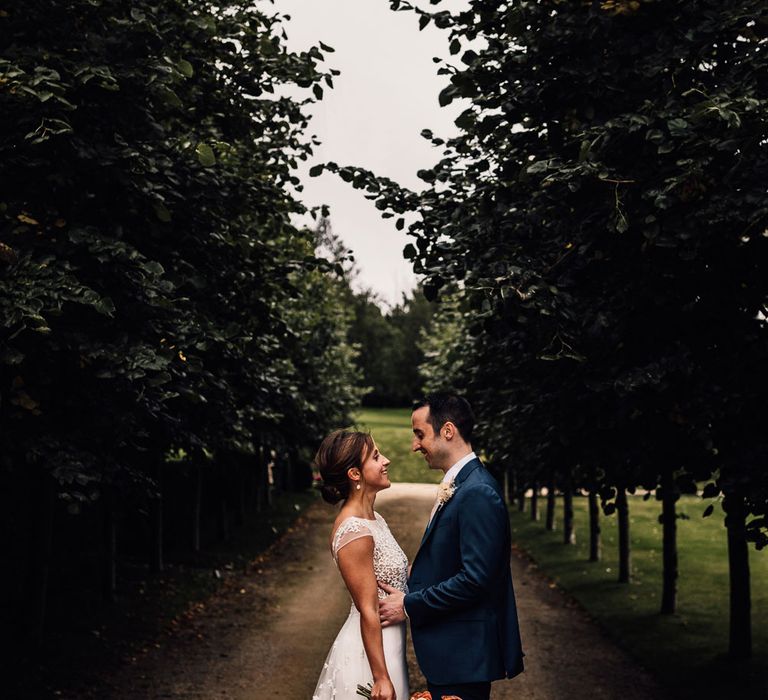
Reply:
[[[411,452],[410,408],[364,408],[356,419],[357,427],[369,430],[381,453],[392,461],[392,481],[437,484],[443,478],[443,472],[430,469],[420,453]]]

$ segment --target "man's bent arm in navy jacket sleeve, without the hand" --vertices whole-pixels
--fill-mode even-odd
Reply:
[[[412,626],[478,603],[500,575],[499,564],[507,560],[504,501],[488,484],[467,488],[458,515],[461,568],[445,581],[405,596],[404,607]]]

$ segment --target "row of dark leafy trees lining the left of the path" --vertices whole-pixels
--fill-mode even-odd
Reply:
[[[115,509],[163,566],[164,491],[189,465],[170,455],[210,467],[226,532],[244,481],[268,500],[267,457],[306,462],[357,397],[339,260],[290,218],[332,49],[287,52],[281,18],[247,2],[1,14],[3,531],[32,533],[31,552],[6,543],[28,582],[9,599],[39,641],[51,554],[84,546],[57,540],[58,504],[97,513],[108,494],[113,590]],[[199,495],[190,510],[199,545]]]

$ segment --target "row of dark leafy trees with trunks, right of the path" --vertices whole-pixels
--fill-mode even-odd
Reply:
[[[765,3],[390,2],[447,30],[460,133],[423,132],[442,157],[418,193],[324,167],[416,217],[405,255],[443,303],[428,382],[470,395],[510,492],[563,494],[566,542],[577,490],[593,558],[599,505],[617,514],[621,581],[627,494],[655,493],[663,613],[675,503],[703,485],[727,528],[730,653],[749,656],[748,545],[768,544]]]

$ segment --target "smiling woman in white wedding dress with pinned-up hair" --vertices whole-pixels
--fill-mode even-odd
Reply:
[[[329,503],[342,502],[331,532],[331,553],[352,597],[352,608],[328,652],[312,700],[408,700],[405,623],[382,629],[377,581],[406,590],[408,559],[378,513],[376,494],[391,486],[389,460],[367,433],[338,430],[315,457]]]

